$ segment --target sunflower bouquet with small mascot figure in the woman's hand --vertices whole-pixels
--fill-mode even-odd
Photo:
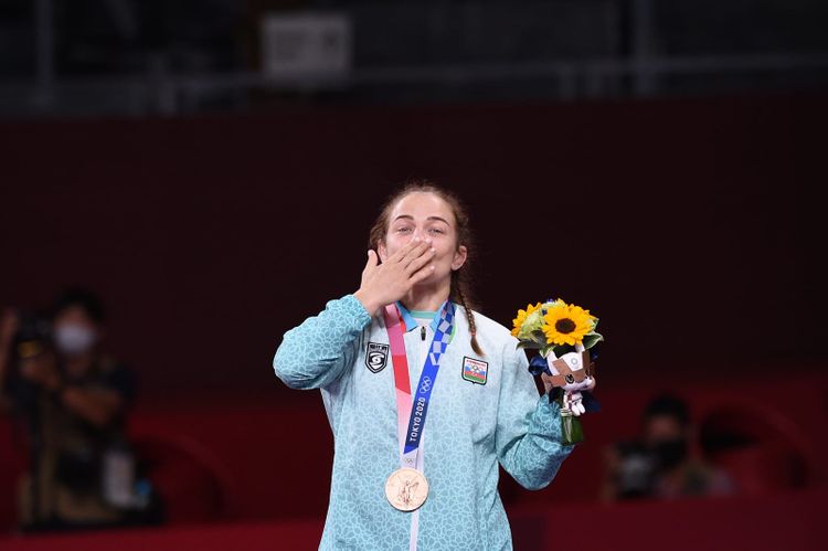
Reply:
[[[595,346],[604,340],[595,331],[598,318],[559,298],[518,310],[513,325],[518,348],[540,352],[529,362],[529,371],[533,375],[545,374],[544,381],[552,383],[550,400],[561,404],[562,442],[583,442],[577,417],[599,407],[590,393],[595,388]]]

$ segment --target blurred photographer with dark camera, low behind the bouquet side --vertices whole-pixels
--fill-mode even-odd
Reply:
[[[693,453],[687,404],[664,394],[649,402],[641,434],[607,451],[602,499],[675,499],[733,492],[731,478]]]

